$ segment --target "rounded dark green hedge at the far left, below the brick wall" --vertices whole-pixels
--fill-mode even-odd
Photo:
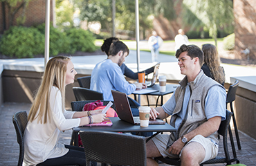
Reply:
[[[33,57],[44,53],[44,35],[36,28],[13,26],[1,37],[0,52],[6,56]]]

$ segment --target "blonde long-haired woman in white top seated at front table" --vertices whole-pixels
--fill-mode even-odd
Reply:
[[[76,74],[68,57],[53,57],[46,64],[42,84],[28,114],[23,165],[86,165],[84,149],[58,142],[59,135],[73,127],[102,122],[106,115],[102,110],[89,114],[64,109],[65,86],[74,82]]]

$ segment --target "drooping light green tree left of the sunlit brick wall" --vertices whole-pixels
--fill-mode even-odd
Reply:
[[[230,0],[183,0],[183,21],[191,28],[204,28],[217,46],[217,32],[233,30],[233,10]]]

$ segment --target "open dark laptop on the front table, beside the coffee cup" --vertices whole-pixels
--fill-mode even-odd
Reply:
[[[131,124],[140,124],[140,117],[136,116],[134,117],[131,113],[131,107],[127,98],[127,95],[125,93],[119,92],[119,91],[113,91],[111,90],[113,95],[113,101],[116,105],[116,111],[118,113],[118,117],[121,120],[124,120],[126,122],[129,122]],[[163,120],[156,119],[156,120],[149,120],[149,124],[165,124]]]

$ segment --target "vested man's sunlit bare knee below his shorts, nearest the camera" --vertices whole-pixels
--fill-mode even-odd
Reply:
[[[190,142],[181,151],[181,166],[199,165],[205,158],[205,149],[198,142]]]

